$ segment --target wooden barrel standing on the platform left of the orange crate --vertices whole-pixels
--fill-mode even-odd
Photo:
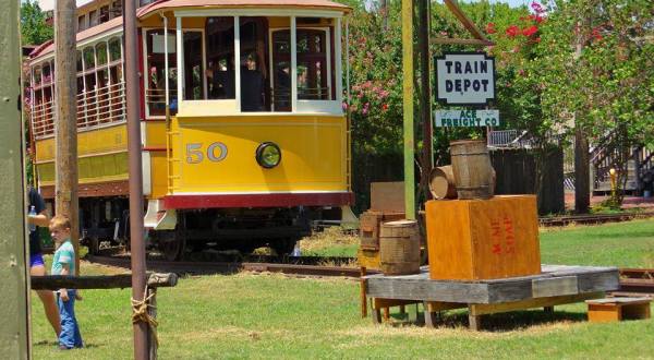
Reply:
[[[382,225],[379,265],[385,275],[420,273],[420,230],[416,220],[398,220]]]

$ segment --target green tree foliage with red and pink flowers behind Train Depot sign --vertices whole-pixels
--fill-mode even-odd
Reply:
[[[348,39],[352,161],[355,192],[367,193],[370,181],[402,178],[401,1],[388,1],[387,28],[374,2],[367,10],[363,1],[349,4],[354,8]],[[569,143],[574,127],[583,128],[591,144],[609,133],[617,134],[615,141],[621,148],[654,144],[651,1],[557,0],[549,7],[532,2],[520,8],[483,1],[460,5],[496,45],[479,49],[432,44],[432,55],[485,50],[495,56],[497,97],[492,107],[500,110],[504,128],[529,131],[541,155]],[[444,4],[433,2],[431,7],[432,38],[471,37]],[[417,61],[414,64],[419,69]],[[422,75],[416,71],[416,85]],[[416,132],[421,139],[420,127]],[[483,135],[481,129],[435,129],[437,164],[449,163],[450,140]],[[421,144],[417,142],[419,147]],[[367,173],[366,166],[379,158],[377,165],[392,166],[396,171]],[[626,167],[626,161],[621,166]],[[358,179],[358,172],[365,175]]]

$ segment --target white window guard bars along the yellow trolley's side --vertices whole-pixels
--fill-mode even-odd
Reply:
[[[124,83],[77,94],[77,129],[87,130],[125,120]],[[55,134],[53,100],[34,106],[32,131],[35,139]]]

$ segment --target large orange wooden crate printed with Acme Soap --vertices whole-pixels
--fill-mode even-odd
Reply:
[[[534,195],[426,203],[432,279],[480,280],[541,273]]]

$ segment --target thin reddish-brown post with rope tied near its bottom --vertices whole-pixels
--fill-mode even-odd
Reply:
[[[145,296],[145,243],[143,242],[143,170],[141,167],[141,121],[138,119],[138,43],[136,0],[125,0],[125,95],[128,113],[128,149],[130,154],[130,244],[132,251],[132,299]],[[168,56],[168,55],[167,55]],[[134,325],[134,359],[148,359],[148,324]]]

